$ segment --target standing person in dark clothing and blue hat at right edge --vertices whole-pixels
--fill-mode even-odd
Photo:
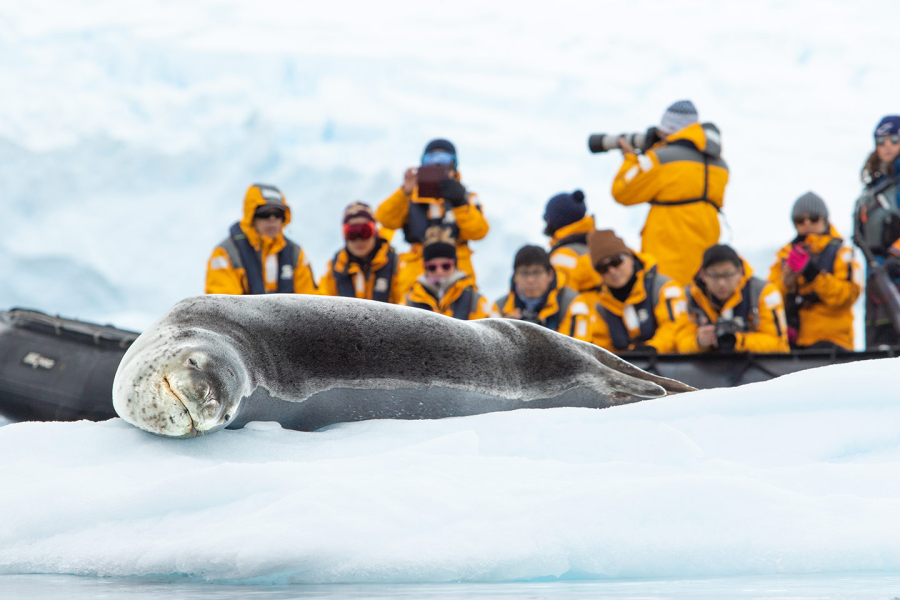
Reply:
[[[900,116],[884,117],[875,128],[874,137],[875,149],[862,170],[866,189],[856,206],[856,242],[865,245],[874,255],[875,264],[883,265],[897,287],[900,286]],[[871,281],[866,286],[867,348],[894,346],[900,338],[888,312],[890,303],[878,289]]]

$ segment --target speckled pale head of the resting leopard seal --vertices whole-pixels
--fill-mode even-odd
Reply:
[[[116,372],[116,413],[166,437],[195,437],[228,425],[251,391],[250,377],[231,344],[202,333],[142,334]]]

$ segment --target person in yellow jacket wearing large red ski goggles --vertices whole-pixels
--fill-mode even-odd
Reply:
[[[344,240],[319,281],[319,292],[399,304],[397,253],[378,235],[371,206],[354,202],[344,210]]]

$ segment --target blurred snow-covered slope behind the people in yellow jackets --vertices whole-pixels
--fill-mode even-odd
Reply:
[[[740,249],[790,239],[807,189],[846,233],[873,126],[898,110],[894,36],[876,34],[898,17],[873,0],[6,2],[0,307],[141,328],[202,291],[255,181],[286,192],[321,273],[343,206],[383,199],[436,136],[491,221],[473,248],[494,297],[559,191],[637,243],[643,211],[609,196],[619,159],[587,135],[686,97],[723,131]]]

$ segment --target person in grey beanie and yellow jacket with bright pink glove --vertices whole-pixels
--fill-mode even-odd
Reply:
[[[797,237],[779,250],[769,271],[785,298],[791,346],[853,350],[852,308],[862,291],[853,250],[844,246],[816,194],[800,196],[791,217]]]

